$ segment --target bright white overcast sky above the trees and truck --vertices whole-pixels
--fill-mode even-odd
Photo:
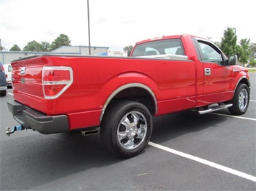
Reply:
[[[53,42],[66,34],[71,45],[89,45],[87,0],[0,0],[1,45]],[[91,46],[123,47],[172,34],[194,34],[221,42],[234,28],[238,42],[256,43],[252,0],[89,0]]]

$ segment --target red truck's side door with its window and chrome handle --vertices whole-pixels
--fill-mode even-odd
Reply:
[[[203,104],[228,101],[233,95],[232,67],[226,57],[211,42],[198,40],[198,52],[203,64]]]

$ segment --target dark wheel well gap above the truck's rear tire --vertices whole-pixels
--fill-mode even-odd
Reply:
[[[111,105],[119,101],[136,101],[146,106],[152,115],[156,113],[154,98],[152,98],[151,93],[144,88],[132,87],[121,90],[112,98],[109,104]]]

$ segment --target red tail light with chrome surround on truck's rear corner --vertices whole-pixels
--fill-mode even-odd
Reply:
[[[71,67],[43,67],[43,94],[45,99],[58,98],[73,83]]]

